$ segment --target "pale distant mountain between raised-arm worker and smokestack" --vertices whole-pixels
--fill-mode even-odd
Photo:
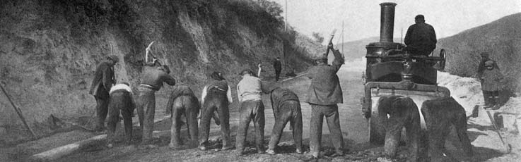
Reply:
[[[365,46],[371,42],[380,41],[380,37],[369,37],[351,42],[344,42],[341,44],[335,44],[334,48],[339,49],[342,54],[346,57],[346,60],[352,61],[354,59],[363,58],[365,56]],[[394,42],[400,42],[400,38],[394,38]],[[342,51],[342,45],[344,45],[344,51]]]

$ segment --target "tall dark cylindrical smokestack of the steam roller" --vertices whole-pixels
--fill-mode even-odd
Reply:
[[[380,42],[392,42],[394,30],[394,6],[392,2],[380,4]]]

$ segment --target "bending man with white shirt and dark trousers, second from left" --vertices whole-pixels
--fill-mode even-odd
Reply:
[[[117,84],[110,89],[109,118],[107,122],[107,139],[109,147],[115,141],[116,124],[119,123],[119,114],[123,116],[123,123],[127,143],[132,139],[132,113],[136,104],[132,98],[132,89],[128,82]]]

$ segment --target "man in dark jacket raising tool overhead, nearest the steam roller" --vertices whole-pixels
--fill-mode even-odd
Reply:
[[[334,156],[343,155],[344,138],[340,130],[339,110],[336,104],[342,103],[342,89],[339,71],[344,58],[338,50],[333,49],[333,44],[329,43],[327,50],[331,49],[334,55],[332,66],[327,65],[327,54],[315,60],[316,66],[308,70],[308,77],[311,78],[311,85],[308,89],[308,102],[311,105],[311,124],[310,124],[310,153],[312,158],[319,158],[320,142],[322,140],[322,122],[326,116],[327,126],[332,136],[334,145]]]

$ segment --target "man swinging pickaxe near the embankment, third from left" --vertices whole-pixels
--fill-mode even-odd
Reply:
[[[156,91],[163,87],[163,82],[168,85],[175,85],[174,77],[168,75],[170,69],[168,66],[146,67],[141,76],[141,85],[139,85],[139,96],[137,103],[137,112],[139,116],[139,125],[143,130],[143,138],[141,144],[151,144],[153,120],[156,112]]]

